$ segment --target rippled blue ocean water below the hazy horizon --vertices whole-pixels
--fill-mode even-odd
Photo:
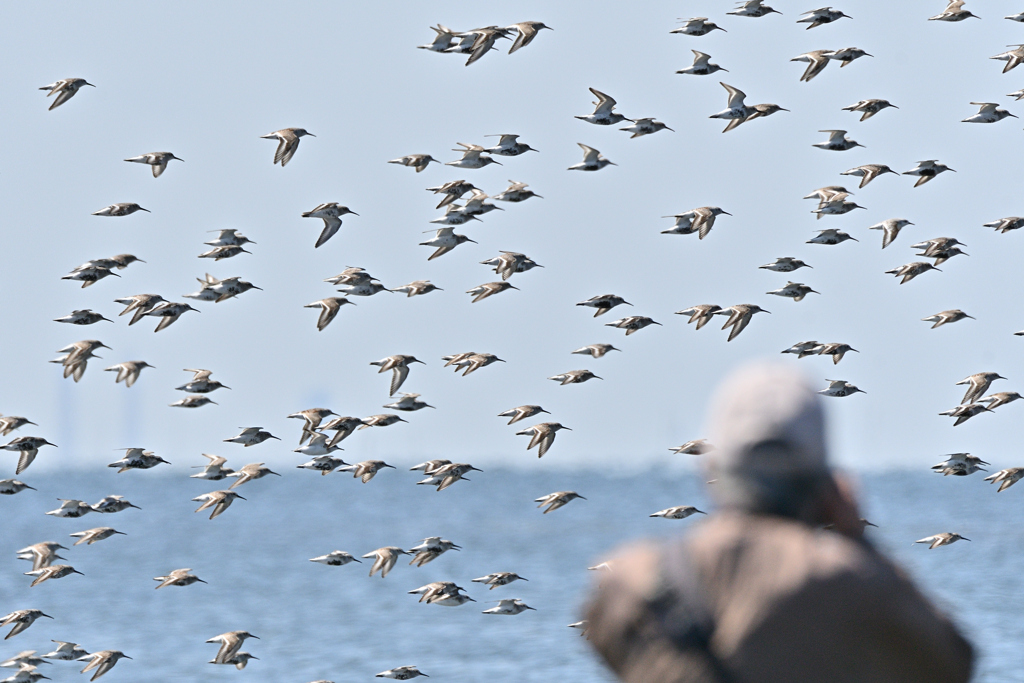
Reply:
[[[0,500],[0,613],[39,608],[54,618],[3,642],[0,655],[46,652],[55,639],[133,657],[106,674],[106,683],[340,683],[371,681],[402,665],[418,666],[434,681],[610,681],[580,632],[566,628],[581,618],[594,580],[587,567],[630,539],[683,532],[700,519],[649,518],[651,512],[711,505],[694,472],[607,476],[488,468],[437,493],[414,485],[420,473],[404,468],[385,470],[367,484],[345,473],[274,469],[284,476],[240,486],[248,500],[212,521],[207,513],[194,514],[199,504],[190,499],[231,480],[189,479],[180,467],[23,474],[18,478],[39,490]],[[975,680],[1024,681],[1024,484],[997,495],[983,476],[863,474],[863,514],[879,525],[868,529],[870,539],[975,643]],[[547,515],[532,503],[563,489],[587,500]],[[94,503],[110,494],[141,510],[79,519],[44,514],[58,507],[57,498]],[[40,541],[70,546],[69,533],[94,526],[127,536],[61,551],[85,575],[29,588],[31,578],[22,572],[31,567],[15,559],[17,549]],[[941,531],[972,541],[934,551],[912,543]],[[430,536],[463,550],[423,567],[399,559],[384,580],[368,578],[367,560],[343,567],[308,561],[333,550],[358,557],[382,546],[408,549]],[[191,567],[209,585],[154,590],[154,577],[179,567]],[[515,571],[528,583],[494,591],[470,583],[493,571]],[[442,580],[467,588],[478,602],[426,605],[407,593]],[[537,611],[480,613],[499,598],[521,598]],[[259,636],[244,648],[259,659],[242,672],[208,665],[217,646],[204,641],[234,630]],[[56,661],[45,673],[54,681],[82,681],[81,667]]]

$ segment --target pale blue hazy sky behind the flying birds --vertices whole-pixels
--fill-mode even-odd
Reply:
[[[0,412],[19,414],[59,450],[47,467],[113,462],[114,449],[144,446],[178,465],[202,452],[232,459],[298,464],[290,453],[299,423],[289,413],[314,405],[344,415],[383,412],[388,376],[369,364],[393,353],[427,361],[403,390],[436,411],[407,415],[410,424],[364,430],[345,441],[349,462],[371,457],[413,464],[445,457],[474,464],[535,466],[527,439],[495,417],[540,403],[562,432],[540,467],[659,464],[668,449],[703,435],[708,397],[737,364],[782,357],[816,382],[854,382],[866,395],[828,400],[834,453],[854,466],[927,467],[941,454],[971,451],[993,465],[1013,460],[1020,404],[953,429],[939,417],[963,395],[954,383],[981,371],[1010,378],[995,390],[1021,389],[1024,328],[1018,233],[982,223],[1021,213],[1022,124],[968,125],[971,101],[998,101],[1024,115],[1006,94],[1024,86],[1024,70],[1000,74],[987,57],[1020,42],[1024,27],[1001,19],[1011,2],[978,8],[984,20],[927,22],[942,2],[881,0],[837,5],[853,15],[805,31],[808,9],[751,19],[726,16],[731,2],[651,2],[642,12],[610,3],[23,3],[6,8],[0,41],[7,134],[0,151],[5,267],[0,269],[4,387]],[[709,15],[728,33],[670,35],[676,17]],[[464,57],[417,50],[429,26],[457,30],[543,20],[554,31],[527,48],[501,51],[466,68]],[[873,54],[829,66],[800,83],[813,49],[856,45]],[[677,76],[690,49],[729,70]],[[96,84],[47,112],[39,86],[80,76]],[[720,79],[719,76],[723,78]],[[718,81],[777,102],[792,113],[745,124],[727,135],[710,114],[725,106]],[[573,118],[591,111],[588,86],[615,97],[626,116],[652,116],[677,132],[629,139],[615,127]],[[864,123],[841,111],[859,99],[898,105]],[[285,169],[271,165],[270,131],[299,126],[303,139]],[[866,145],[847,153],[815,150],[819,129],[846,128]],[[519,133],[541,151],[501,159],[502,167],[460,171],[432,165],[416,174],[385,162],[428,153],[443,161],[456,142]],[[584,142],[618,166],[569,173]],[[154,179],[122,160],[170,151],[184,159]],[[864,163],[905,171],[939,159],[957,173],[919,188],[909,177],[884,176],[854,200],[867,207],[816,221],[811,189],[849,180],[839,173]],[[427,262],[418,246],[441,212],[427,186],[466,178],[496,194],[513,178],[543,200],[503,204],[482,223],[460,228],[464,245]],[[319,221],[300,214],[337,201],[360,215],[318,250]],[[89,215],[114,202],[137,202],[152,214]],[[710,237],[659,233],[659,218],[697,206],[729,211]],[[915,223],[885,251],[867,226],[886,218]],[[196,256],[208,230],[237,227],[256,241],[252,255],[211,263]],[[842,228],[859,243],[804,244],[815,229]],[[918,260],[915,242],[955,237],[958,257],[899,286],[884,271]],[[496,279],[478,262],[499,250],[524,252],[545,268],[516,275],[510,291],[477,304],[464,292]],[[91,258],[130,252],[146,263],[80,290],[60,276]],[[784,273],[757,266],[776,256],[814,266],[795,278],[821,292],[800,303],[766,296]],[[356,298],[325,331],[303,304],[332,296],[322,282],[362,266],[387,286],[431,280],[444,289],[407,299],[382,293]],[[75,328],[50,321],[91,307],[115,317],[113,299],[159,293],[171,300],[197,289],[196,278],[241,275],[264,291],[222,304],[201,303],[155,335],[154,322]],[[616,293],[635,304],[594,319],[573,304]],[[700,332],[673,312],[697,303],[758,303],[759,315],[735,341],[719,325]],[[947,308],[977,317],[930,330],[920,318]],[[616,313],[650,315],[652,327],[625,338],[603,326]],[[719,318],[722,319],[722,318]],[[97,338],[114,350],[90,362],[81,383],[60,378],[47,360],[66,344]],[[843,341],[861,353],[838,368],[828,357],[797,360],[778,352],[805,339]],[[569,355],[585,344],[623,349],[601,359]],[[506,359],[467,378],[441,368],[441,355],[492,352]],[[102,369],[128,359],[156,366],[131,389]],[[219,405],[168,408],[188,376],[209,368],[232,391]],[[546,378],[588,368],[604,381],[560,387]],[[532,422],[523,423],[527,426]],[[282,436],[245,452],[221,439],[261,425]],[[13,456],[3,456],[13,461]],[[12,469],[12,468],[8,468]],[[31,474],[34,470],[30,470]],[[25,476],[28,476],[25,475]],[[23,477],[24,478],[24,477]]]

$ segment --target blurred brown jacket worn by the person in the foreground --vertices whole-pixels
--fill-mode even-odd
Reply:
[[[869,545],[838,533],[723,513],[686,539],[629,548],[610,565],[588,632],[627,683],[971,677],[972,648],[953,625]]]

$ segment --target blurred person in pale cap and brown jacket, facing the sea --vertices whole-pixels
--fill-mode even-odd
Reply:
[[[592,596],[588,634],[622,680],[970,679],[970,643],[862,539],[828,466],[819,400],[777,365],[749,366],[719,390],[708,456],[718,513],[685,538],[618,553]]]

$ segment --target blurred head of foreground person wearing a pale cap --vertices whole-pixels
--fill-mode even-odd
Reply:
[[[836,480],[820,398],[802,374],[777,362],[740,368],[719,387],[709,422],[719,505],[820,521]]]

